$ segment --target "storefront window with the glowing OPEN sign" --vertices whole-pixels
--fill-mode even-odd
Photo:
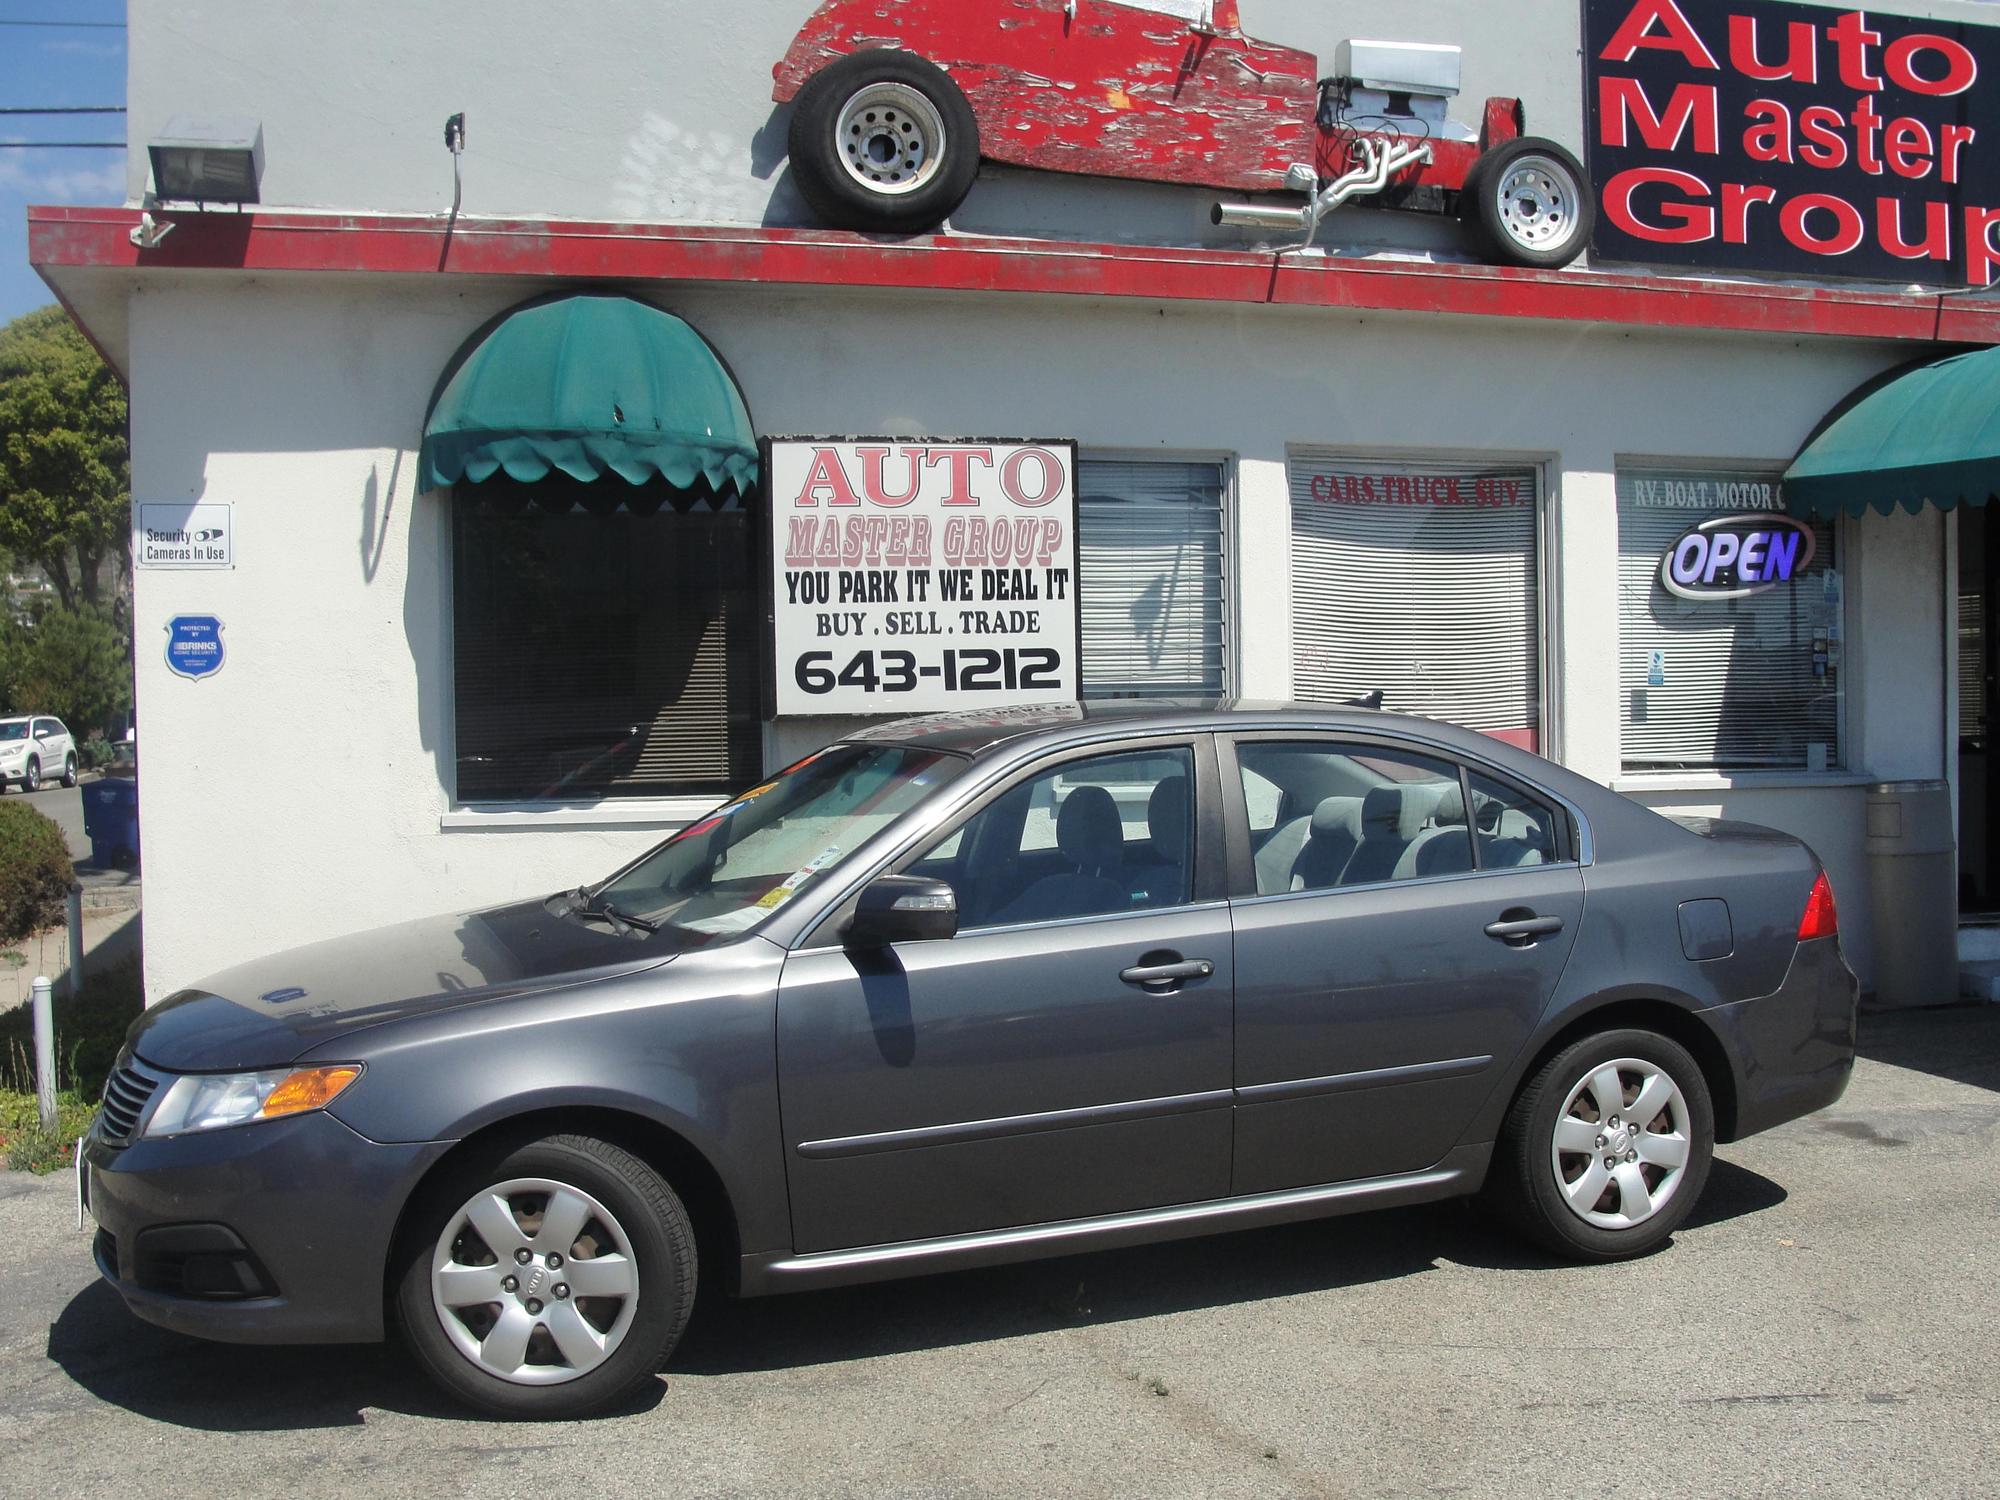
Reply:
[[[1836,770],[1838,530],[1772,472],[1620,470],[1618,656],[1626,770]]]

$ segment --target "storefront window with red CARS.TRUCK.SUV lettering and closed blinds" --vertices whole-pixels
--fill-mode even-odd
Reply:
[[[1540,748],[1540,476],[1292,454],[1292,692]]]

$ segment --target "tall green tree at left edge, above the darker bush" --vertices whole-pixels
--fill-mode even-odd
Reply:
[[[66,610],[132,568],[132,460],[118,378],[62,308],[0,328],[0,552],[48,574]]]

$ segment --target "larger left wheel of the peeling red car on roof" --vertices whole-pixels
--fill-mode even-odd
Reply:
[[[800,194],[842,230],[934,230],[980,170],[980,124],[964,90],[894,48],[850,52],[816,72],[798,92],[788,142]]]

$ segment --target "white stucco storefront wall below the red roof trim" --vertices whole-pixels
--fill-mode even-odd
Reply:
[[[148,994],[232,960],[604,874],[640,814],[468,818],[450,804],[450,560],[442,496],[414,494],[424,404],[484,318],[542,288],[392,278],[158,276],[132,300],[134,498],[226,500],[234,572],[140,570]],[[736,370],[762,432],[1054,432],[1090,448],[1238,456],[1234,688],[1290,692],[1288,444],[1540,462],[1556,754],[1618,772],[1620,454],[1772,462],[1896,358],[1850,344],[1492,320],[1068,298],[648,288]],[[944,334],[944,336],[940,336]],[[894,382],[846,378],[894,368]],[[834,376],[842,378],[834,378]],[[1942,756],[1938,528],[1860,528],[1854,744],[1884,776]],[[1880,552],[1880,574],[1874,562]],[[220,674],[164,666],[176,612],[226,624]],[[1924,676],[1930,672],[1932,676]],[[830,730],[784,724],[782,760]],[[1806,834],[1858,892],[1852,786],[1662,796]],[[630,822],[640,816],[642,822]],[[1858,956],[1864,922],[1844,906]]]

